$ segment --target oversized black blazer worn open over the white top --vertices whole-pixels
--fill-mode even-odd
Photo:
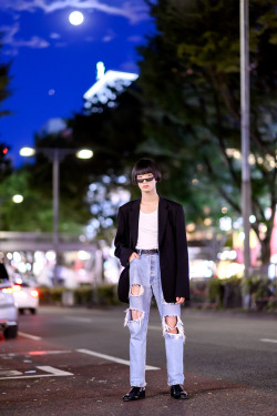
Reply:
[[[122,266],[129,266],[129,257],[135,251],[138,234],[141,199],[122,205],[117,214],[117,232],[114,254]],[[183,206],[160,196],[158,252],[164,298],[175,303],[176,296],[189,300],[188,252],[185,214]]]

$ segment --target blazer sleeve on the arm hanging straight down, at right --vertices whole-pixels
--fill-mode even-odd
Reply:
[[[189,265],[186,241],[186,224],[183,206],[179,205],[176,212],[176,288],[175,295],[189,300]]]

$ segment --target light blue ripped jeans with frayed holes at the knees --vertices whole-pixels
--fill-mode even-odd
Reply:
[[[134,293],[133,285],[136,285],[135,295],[132,294],[132,292]],[[153,294],[156,298],[165,338],[168,385],[183,384],[185,379],[183,372],[185,335],[181,321],[181,305],[166,303],[164,300],[158,254],[141,254],[141,258],[134,258],[130,263],[130,308],[126,310],[124,322],[124,326],[127,325],[130,329],[130,384],[136,387],[146,385],[146,334]],[[132,319],[132,311],[138,314],[136,319]],[[166,324],[167,316],[176,317],[175,327],[170,327]],[[177,329],[176,334],[168,332],[168,329],[175,328]]]

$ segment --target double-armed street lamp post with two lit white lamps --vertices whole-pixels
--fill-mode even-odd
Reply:
[[[69,154],[75,154],[79,159],[91,159],[91,149],[60,149],[60,148],[22,148],[21,156],[33,156],[35,153],[44,154],[52,162],[52,193],[53,193],[53,250],[55,252],[55,268],[53,283],[57,285],[59,263],[59,222],[60,222],[60,163]]]

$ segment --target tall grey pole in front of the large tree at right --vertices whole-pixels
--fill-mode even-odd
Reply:
[[[242,130],[242,211],[244,219],[244,278],[249,277],[249,216],[252,189],[249,158],[249,23],[248,0],[240,0],[240,130]]]

